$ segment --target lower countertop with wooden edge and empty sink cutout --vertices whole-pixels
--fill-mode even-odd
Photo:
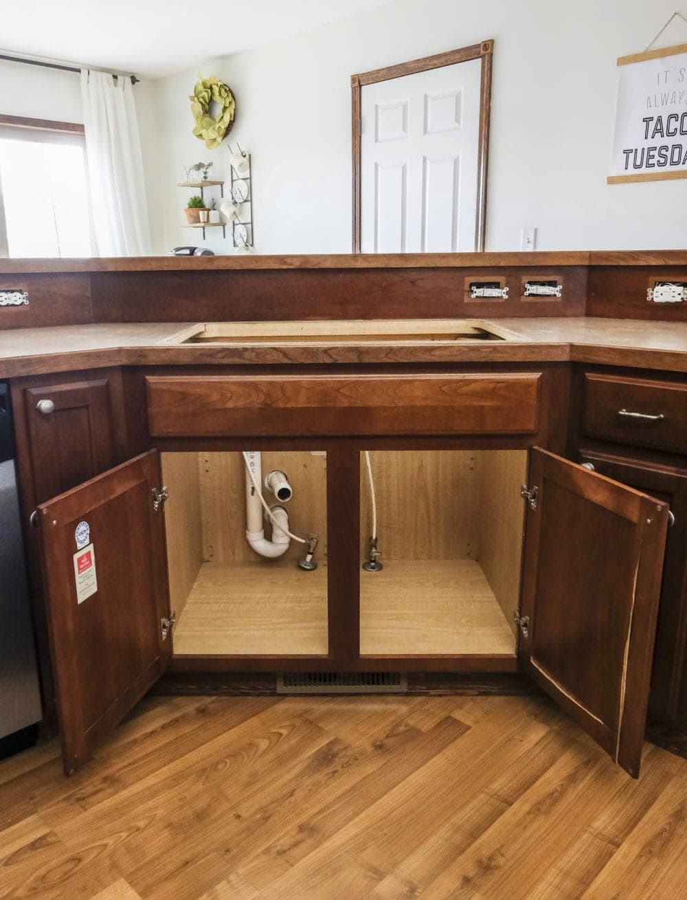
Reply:
[[[494,319],[517,341],[422,346],[262,347],[162,344],[194,322],[70,325],[0,331],[0,378],[105,365],[538,363],[574,361],[687,372],[687,323]]]

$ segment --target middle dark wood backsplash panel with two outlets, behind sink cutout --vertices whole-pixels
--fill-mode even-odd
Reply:
[[[523,264],[526,265],[523,261]],[[564,302],[521,296],[522,276],[551,267],[287,268],[237,271],[120,272],[91,275],[96,322],[251,321],[325,319],[528,318],[584,314],[587,271],[561,268]],[[507,302],[469,301],[466,278],[505,279]],[[498,306],[498,310],[495,310]],[[555,307],[555,309],[553,309]]]

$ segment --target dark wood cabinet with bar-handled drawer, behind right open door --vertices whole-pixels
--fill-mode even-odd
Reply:
[[[574,458],[670,505],[649,718],[687,732],[687,383],[608,367],[581,370],[575,382]]]

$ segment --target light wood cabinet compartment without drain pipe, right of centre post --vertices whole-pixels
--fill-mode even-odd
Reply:
[[[370,453],[384,568],[360,572],[360,653],[515,653],[523,450]],[[372,510],[360,460],[361,559]]]

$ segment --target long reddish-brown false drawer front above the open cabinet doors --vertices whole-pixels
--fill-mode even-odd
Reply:
[[[149,376],[153,437],[531,434],[540,373]]]

